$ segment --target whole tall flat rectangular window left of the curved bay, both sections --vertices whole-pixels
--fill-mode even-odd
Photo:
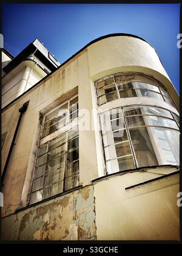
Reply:
[[[66,110],[66,111],[65,111]],[[65,114],[66,113],[66,114]],[[65,115],[64,115],[65,114]],[[42,137],[30,195],[30,204],[42,201],[79,185],[78,127],[62,132],[64,124],[78,116],[78,97],[44,116]],[[62,122],[66,119],[65,122]],[[61,122],[61,126],[59,123]],[[45,132],[47,130],[47,132]],[[56,137],[50,137],[59,130]],[[46,138],[45,138],[46,137]],[[46,140],[44,140],[44,138]]]

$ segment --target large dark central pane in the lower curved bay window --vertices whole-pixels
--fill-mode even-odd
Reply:
[[[158,165],[146,127],[129,129],[138,166]]]

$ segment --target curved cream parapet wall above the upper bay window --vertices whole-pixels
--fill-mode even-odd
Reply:
[[[135,71],[160,80],[179,108],[179,97],[152,46],[129,36],[108,37],[87,48],[90,77],[93,81],[109,74]]]

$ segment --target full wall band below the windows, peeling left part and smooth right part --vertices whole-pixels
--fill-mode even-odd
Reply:
[[[2,240],[179,240],[175,168],[105,177],[2,218]],[[140,182],[150,181],[138,187]]]

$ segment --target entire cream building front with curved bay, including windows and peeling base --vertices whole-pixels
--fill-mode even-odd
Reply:
[[[24,90],[2,109],[2,239],[179,240],[178,111],[157,52],[128,34]]]

